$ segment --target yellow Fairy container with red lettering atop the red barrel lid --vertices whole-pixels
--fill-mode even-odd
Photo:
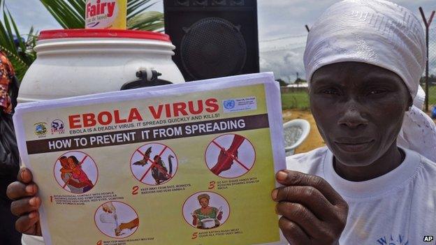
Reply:
[[[127,0],[87,0],[85,29],[126,29]]]

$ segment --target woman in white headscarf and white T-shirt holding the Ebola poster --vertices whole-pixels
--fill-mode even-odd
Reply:
[[[425,54],[419,20],[388,1],[341,1],[314,24],[304,61],[327,147],[287,159],[300,172],[277,173],[285,187],[272,195],[291,244],[422,244],[436,234],[436,164],[416,152],[434,154],[435,125],[412,105]],[[415,151],[398,147],[400,130]]]

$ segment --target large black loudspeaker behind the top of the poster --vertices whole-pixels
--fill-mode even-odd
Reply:
[[[185,80],[259,73],[256,0],[163,0],[163,8]]]

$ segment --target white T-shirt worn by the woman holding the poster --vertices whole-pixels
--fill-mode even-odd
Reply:
[[[347,225],[340,244],[436,244],[436,163],[404,149],[405,161],[368,181],[342,179],[327,147],[289,156],[286,165],[328,181],[348,202]],[[433,236],[433,242],[423,242]]]

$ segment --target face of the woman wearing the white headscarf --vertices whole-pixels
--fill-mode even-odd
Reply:
[[[356,167],[374,163],[396,142],[412,105],[398,75],[359,62],[319,68],[312,76],[310,103],[335,158]]]

